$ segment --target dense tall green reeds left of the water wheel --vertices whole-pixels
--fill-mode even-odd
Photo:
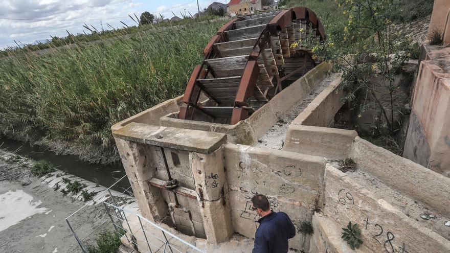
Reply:
[[[225,22],[144,26],[51,54],[0,58],[0,134],[69,143],[91,162],[117,160],[110,127],[182,95],[202,49]]]

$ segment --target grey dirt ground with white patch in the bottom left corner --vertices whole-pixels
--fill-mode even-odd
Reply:
[[[84,202],[63,196],[36,178],[27,186],[0,181],[0,205],[0,252],[81,252],[64,219]],[[97,210],[88,209],[76,218],[86,219]]]

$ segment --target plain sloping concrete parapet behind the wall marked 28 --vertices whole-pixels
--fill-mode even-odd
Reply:
[[[359,169],[450,216],[450,178],[359,137],[355,138],[350,158]]]

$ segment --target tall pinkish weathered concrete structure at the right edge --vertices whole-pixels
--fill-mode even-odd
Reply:
[[[444,37],[449,10],[450,2],[435,1],[430,29],[445,28]],[[425,43],[421,59],[403,156],[450,177],[450,50]]]

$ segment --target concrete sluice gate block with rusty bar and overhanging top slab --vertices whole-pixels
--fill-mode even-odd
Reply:
[[[219,243],[232,234],[221,145],[226,135],[129,123],[115,130],[142,215]],[[166,189],[170,176],[179,182]]]

